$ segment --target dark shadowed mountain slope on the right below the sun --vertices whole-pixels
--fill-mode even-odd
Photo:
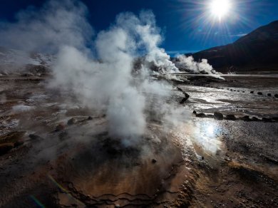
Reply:
[[[192,54],[217,71],[278,71],[278,21],[262,26],[226,46]]]

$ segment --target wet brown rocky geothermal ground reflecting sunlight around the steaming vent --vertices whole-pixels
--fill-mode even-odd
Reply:
[[[278,207],[277,78],[178,83],[205,118],[152,120],[130,147],[46,81],[0,78],[0,207]]]

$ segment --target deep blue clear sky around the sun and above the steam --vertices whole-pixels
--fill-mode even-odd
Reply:
[[[230,14],[221,22],[207,15],[205,4],[210,1],[83,0],[83,3],[88,6],[88,20],[96,31],[108,28],[120,12],[137,14],[142,9],[152,10],[165,38],[162,47],[171,56],[231,43],[259,26],[278,20],[277,0],[230,0],[233,5]],[[0,19],[14,21],[16,12],[43,3],[39,0],[1,0]]]

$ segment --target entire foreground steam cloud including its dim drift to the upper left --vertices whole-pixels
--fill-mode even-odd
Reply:
[[[92,112],[105,114],[109,135],[126,144],[145,134],[151,115],[172,127],[177,120],[185,120],[185,108],[172,108],[166,102],[172,85],[151,76],[153,66],[156,73],[178,71],[158,47],[162,38],[154,14],[119,14],[114,24],[93,39],[86,13],[81,1],[51,0],[38,11],[22,11],[18,21],[4,25],[0,34],[5,46],[55,53],[48,86],[72,94]],[[16,41],[19,36],[21,41]],[[138,57],[144,58],[134,73]]]

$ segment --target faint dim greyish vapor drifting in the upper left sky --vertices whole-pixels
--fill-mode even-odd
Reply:
[[[29,7],[14,23],[0,23],[0,46],[56,53],[61,45],[83,47],[93,35],[81,1],[47,1],[41,9]]]

